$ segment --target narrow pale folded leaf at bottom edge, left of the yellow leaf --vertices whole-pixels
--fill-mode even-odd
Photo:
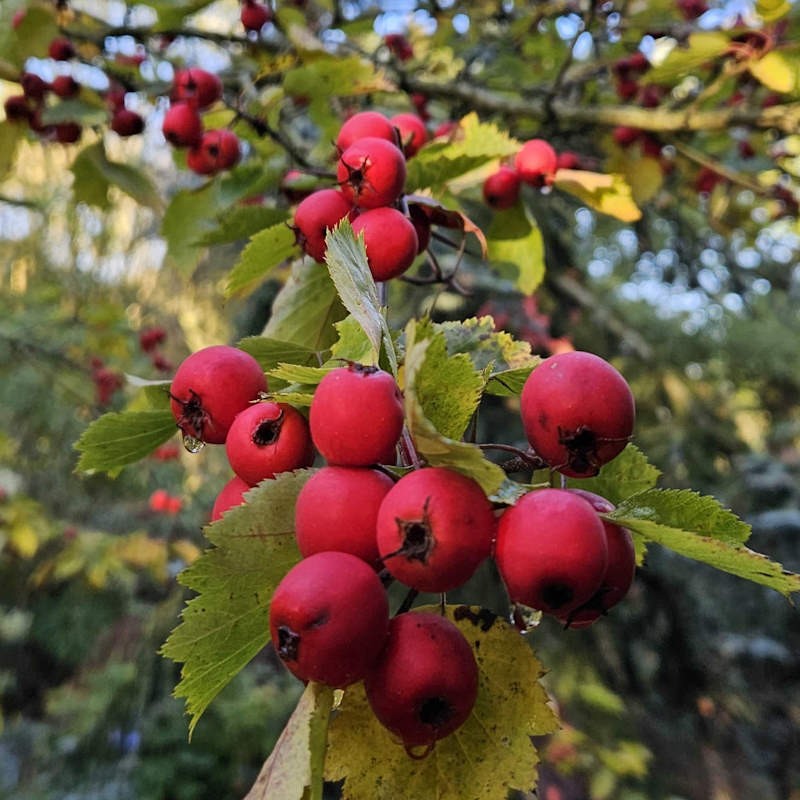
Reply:
[[[333,689],[313,682],[306,686],[244,800],[322,800],[332,706]]]

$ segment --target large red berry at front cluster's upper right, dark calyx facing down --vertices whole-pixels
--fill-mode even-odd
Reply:
[[[592,353],[550,356],[531,372],[520,398],[525,435],[555,470],[596,475],[631,438],[636,416],[625,378]]]

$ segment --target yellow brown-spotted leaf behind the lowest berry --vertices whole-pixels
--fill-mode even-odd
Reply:
[[[531,737],[556,728],[542,667],[499,617],[469,606],[446,611],[478,662],[472,714],[430,755],[413,759],[376,720],[362,685],[349,687],[331,721],[325,762],[328,780],[344,779],[343,800],[498,800],[511,788],[533,789],[539,758]]]

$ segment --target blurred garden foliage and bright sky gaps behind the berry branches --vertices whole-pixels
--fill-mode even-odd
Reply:
[[[121,3],[69,5],[81,12],[94,6],[92,13],[119,19],[120,27],[135,21],[119,17]],[[167,27],[178,30],[188,5],[173,5],[164,13],[172,14]],[[579,31],[578,12],[586,21],[583,7],[599,4],[289,5],[285,23],[307,26],[325,41],[344,31],[408,91],[423,79],[429,89],[431,82],[444,87],[430,90],[432,123],[458,118],[480,101],[467,91],[447,95],[450,85],[469,85],[465,76],[478,76],[501,98],[513,92],[533,102],[563,84],[564,102],[614,102],[613,81],[559,77]],[[685,24],[676,23],[675,3],[622,5],[627,27],[620,24],[616,38],[610,23],[598,32],[597,18],[589,20],[598,38],[605,35],[605,66],[643,33]],[[749,3],[711,5],[728,15],[734,5],[752,10]],[[235,2],[213,3],[191,27],[241,38],[237,13]],[[434,31],[432,17],[439,21]],[[784,21],[785,39],[796,41],[793,5]],[[382,46],[396,25],[414,47],[408,65]],[[120,32],[105,47],[125,52],[135,44]],[[277,181],[298,154],[328,157],[325,145],[346,109],[339,98],[319,102],[318,87],[304,85],[302,76],[282,84],[278,33],[266,35],[263,47],[239,42],[228,50],[213,37],[176,34],[169,47],[154,65],[170,58],[208,64],[232,83],[258,75],[245,93],[248,110],[291,135],[292,149],[239,121],[252,158],[207,185],[195,180],[160,138],[157,87],[166,79],[145,62],[130,73],[142,87],[134,102],[155,120],[144,137],[123,142],[95,128],[83,144],[103,140],[117,161],[148,176],[154,198],[136,202],[113,182],[98,188],[96,174],[74,168],[83,145],[28,137],[3,164],[0,797],[240,798],[299,694],[265,652],[212,705],[191,743],[182,704],[170,695],[176,669],[157,651],[184,600],[175,575],[204,546],[201,528],[227,479],[219,452],[192,456],[176,438],[114,478],[74,472],[72,444],[86,425],[135,402],[131,376],[168,380],[192,350],[260,332],[285,272],[247,297],[226,300],[226,274],[245,242],[206,247],[197,240],[252,194],[288,207],[276,199]],[[572,67],[597,70],[590,58]],[[740,79],[741,71],[716,83],[708,78],[711,99],[722,104],[737,91],[763,99],[767,89]],[[300,96],[304,89],[310,103]],[[11,90],[4,83],[2,91]],[[409,106],[402,92],[359,102]],[[557,114],[526,117],[502,103],[478,110],[513,135],[535,134],[580,153],[599,171],[615,159],[646,167],[636,151],[621,152],[607,128],[569,125]],[[743,158],[742,141],[752,144],[755,163]],[[564,194],[526,190],[547,259],[535,299],[468,252],[460,273],[468,296],[443,290],[432,301],[427,287],[393,285],[393,322],[426,309],[439,318],[490,313],[543,355],[574,346],[612,359],[633,386],[636,443],[663,471],[662,485],[716,495],[753,525],[754,549],[797,571],[796,205],[761,190],[772,184],[743,185],[756,178],[702,192],[697,181],[711,158],[734,178],[767,180],[765,173],[778,169],[778,185],[791,188],[800,142],[770,129],[736,128],[678,131],[661,144],[672,167],[657,179],[638,222],[623,225]],[[490,226],[478,191],[458,203],[482,228]],[[155,346],[146,338],[153,330]],[[485,440],[522,443],[513,401],[487,401],[480,427]],[[494,576],[476,580],[502,602]],[[800,617],[777,594],[653,549],[632,596],[609,619],[567,632],[546,621],[530,638],[565,723],[541,743],[538,797],[800,797]]]

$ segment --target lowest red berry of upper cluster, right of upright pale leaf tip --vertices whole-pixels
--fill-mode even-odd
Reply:
[[[419,252],[417,231],[396,208],[372,208],[353,220],[353,233],[364,235],[367,263],[376,281],[402,275]]]

